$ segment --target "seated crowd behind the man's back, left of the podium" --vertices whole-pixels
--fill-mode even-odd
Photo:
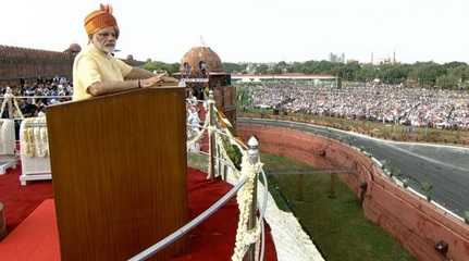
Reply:
[[[54,77],[51,79],[38,79],[33,84],[22,84],[21,87],[0,87],[0,105],[3,104],[4,95],[10,92],[16,101],[23,116],[37,116],[50,104],[66,101],[73,95],[73,86],[66,78]],[[32,98],[27,98],[32,97]],[[47,98],[46,98],[47,97]],[[63,97],[63,98],[62,98]],[[10,110],[3,110],[0,117],[18,117],[20,113],[13,108],[13,115],[9,115]]]

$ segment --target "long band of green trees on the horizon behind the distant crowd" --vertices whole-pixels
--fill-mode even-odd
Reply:
[[[335,54],[334,54],[335,55]],[[335,55],[338,58],[337,55]],[[332,59],[335,61],[334,59]],[[176,67],[168,69],[169,64],[148,60],[148,63],[157,70],[175,72]],[[358,62],[331,62],[306,61],[286,63],[223,63],[227,73],[257,74],[269,73],[304,73],[304,74],[330,74],[345,80],[371,82],[375,78],[386,84],[416,83],[424,87],[467,88],[469,89],[469,65],[464,62],[449,62],[437,64],[435,62],[416,62],[414,64],[360,64]],[[151,67],[151,69],[153,69]],[[250,69],[251,67],[251,69]],[[249,69],[249,70],[248,70]]]

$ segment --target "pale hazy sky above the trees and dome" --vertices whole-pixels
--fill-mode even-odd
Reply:
[[[62,51],[86,45],[101,1],[4,1],[0,45]],[[328,59],[469,62],[468,0],[113,0],[120,57],[178,62],[205,42],[222,61]]]

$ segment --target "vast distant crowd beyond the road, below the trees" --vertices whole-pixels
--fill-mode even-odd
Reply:
[[[411,126],[469,128],[469,91],[377,83],[314,86],[262,83],[249,87],[252,103],[287,112],[363,119]]]

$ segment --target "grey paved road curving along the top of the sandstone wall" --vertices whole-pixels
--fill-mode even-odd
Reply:
[[[238,123],[267,124],[310,132],[335,139],[347,139],[370,151],[380,161],[386,160],[410,179],[410,186],[422,191],[419,183],[432,184],[432,199],[464,216],[469,211],[469,148],[394,142],[322,126],[273,121],[237,119]]]

